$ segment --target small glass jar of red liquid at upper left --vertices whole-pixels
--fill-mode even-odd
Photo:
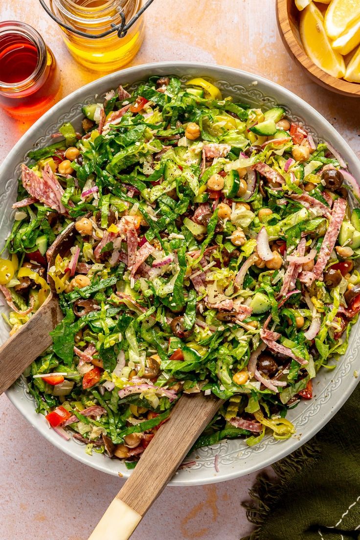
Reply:
[[[40,34],[28,24],[0,23],[0,106],[13,118],[38,118],[55,102],[60,75]]]

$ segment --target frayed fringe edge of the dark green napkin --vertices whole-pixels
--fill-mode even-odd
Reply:
[[[267,473],[262,473],[256,479],[253,489],[249,490],[252,501],[243,502],[246,508],[248,521],[256,525],[255,530],[241,538],[241,540],[260,540],[260,531],[267,516],[282,497],[284,490],[288,487],[289,481],[295,474],[303,473],[313,467],[321,453],[320,444],[314,437],[308,443],[303,444],[287,457],[274,463],[272,468],[276,477],[270,477]]]

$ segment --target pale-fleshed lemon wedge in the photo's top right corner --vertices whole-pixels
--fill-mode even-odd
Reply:
[[[324,19],[326,33],[331,39],[336,39],[359,18],[359,0],[332,0]]]

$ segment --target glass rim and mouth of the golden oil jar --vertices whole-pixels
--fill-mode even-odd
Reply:
[[[127,14],[126,11],[129,11],[129,5],[132,2],[134,3],[133,9]],[[87,8],[78,4],[76,0],[50,0],[50,6],[52,7],[52,4],[55,4],[60,14],[70,21],[78,24],[99,25],[109,21],[113,22],[113,16],[110,16],[109,11],[114,8],[121,8],[118,9],[119,17],[120,11],[123,11],[125,16],[130,15],[132,17],[138,11],[140,2],[141,0],[125,0],[124,3],[121,0],[107,0],[105,4],[98,6],[98,8]],[[73,9],[73,11],[69,11],[70,9]],[[92,15],[92,17],[89,17],[89,15]],[[95,15],[98,16],[95,17]]]

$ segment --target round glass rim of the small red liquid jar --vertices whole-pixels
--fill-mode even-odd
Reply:
[[[0,76],[0,90],[7,92],[19,92],[26,90],[31,86],[44,71],[46,66],[46,44],[39,32],[32,28],[29,24],[19,21],[2,21],[0,22],[0,38],[6,33],[16,33],[22,37],[28,38],[38,51],[37,64],[31,75],[26,79],[19,80],[17,83],[6,83],[1,80]]]

